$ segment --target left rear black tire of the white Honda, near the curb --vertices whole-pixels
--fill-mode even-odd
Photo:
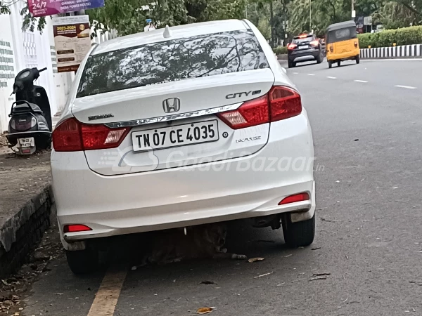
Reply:
[[[98,250],[85,249],[79,251],[66,250],[68,265],[75,275],[94,272],[98,268]]]

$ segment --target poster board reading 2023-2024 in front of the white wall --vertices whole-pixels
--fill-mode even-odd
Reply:
[[[57,71],[75,72],[91,48],[89,16],[53,18]]]

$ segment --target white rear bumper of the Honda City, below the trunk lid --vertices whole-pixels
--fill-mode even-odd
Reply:
[[[259,152],[224,162],[101,176],[88,168],[84,152],[53,151],[60,235],[65,245],[284,212],[300,211],[292,220],[305,220],[315,209],[313,160],[305,110],[272,123],[269,141]],[[300,192],[308,192],[311,199],[278,205]],[[76,223],[92,230],[63,234],[64,225]]]

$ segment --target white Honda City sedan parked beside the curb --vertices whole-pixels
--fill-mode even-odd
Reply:
[[[93,46],[53,132],[70,268],[93,270],[103,237],[241,218],[312,244],[313,162],[300,93],[248,20]]]

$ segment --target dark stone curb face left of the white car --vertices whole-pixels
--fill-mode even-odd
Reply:
[[[0,278],[10,275],[27,260],[28,254],[50,226],[54,204],[50,185],[39,190],[0,226]]]

